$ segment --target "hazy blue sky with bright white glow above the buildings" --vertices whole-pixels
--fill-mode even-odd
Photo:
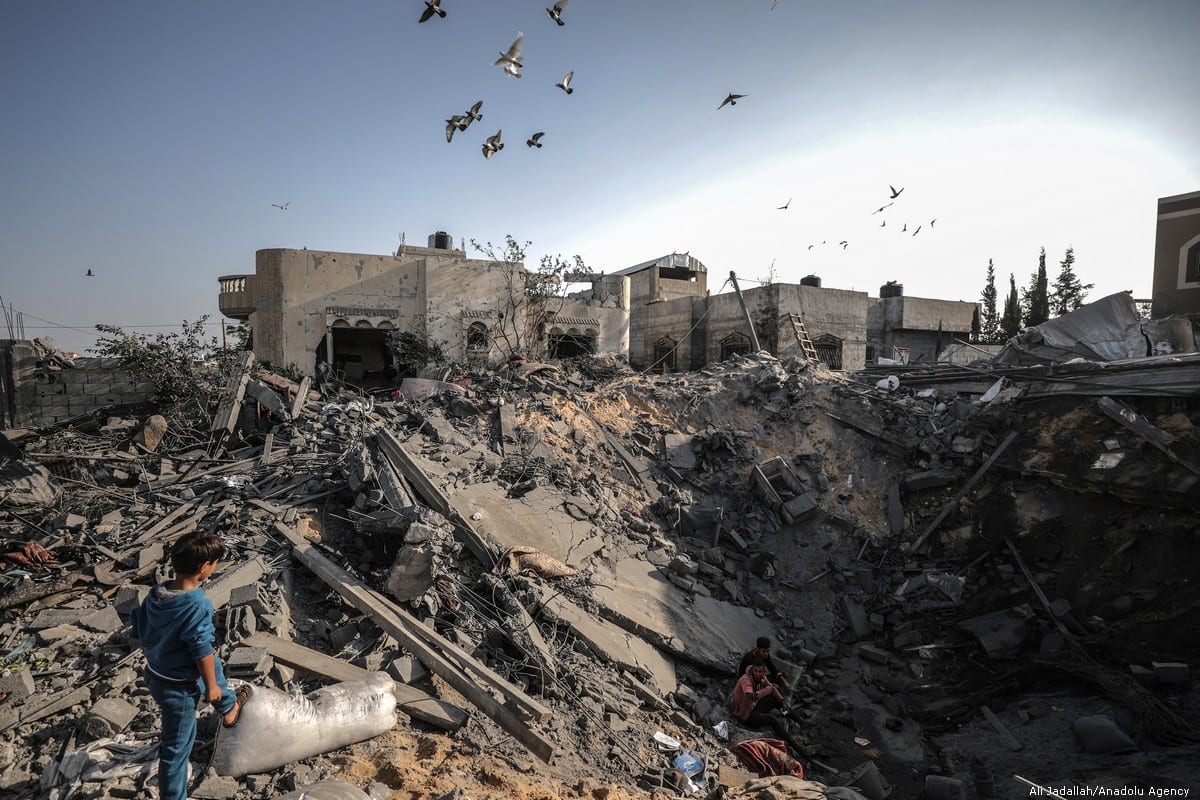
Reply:
[[[1196,0],[572,0],[563,28],[547,0],[443,5],[0,4],[0,295],[26,335],[220,333],[216,278],[258,248],[438,229],[961,300],[989,258],[1020,285],[1073,246],[1093,297],[1148,296],[1156,200],[1200,190]],[[517,31],[520,80],[492,66]]]

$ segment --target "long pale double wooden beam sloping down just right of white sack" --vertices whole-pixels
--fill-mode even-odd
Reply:
[[[520,688],[509,684],[499,675],[496,675],[496,673],[492,673],[492,670],[487,667],[479,664],[474,658],[470,658],[466,654],[463,654],[463,667],[460,668],[450,663],[440,652],[434,650],[425,640],[425,636],[438,637],[434,631],[422,626],[404,609],[400,608],[395,603],[391,603],[390,601],[386,601],[378,593],[371,591],[371,589],[361,581],[318,553],[316,548],[296,534],[296,531],[278,523],[276,523],[275,529],[284,539],[292,542],[293,554],[300,560],[300,563],[307,566],[318,578],[324,581],[329,588],[341,595],[343,600],[358,608],[360,612],[371,616],[371,619],[374,620],[379,627],[386,631],[388,634],[403,644],[414,656],[416,656],[416,658],[420,660],[420,662],[425,664],[430,672],[434,673],[450,684],[450,686],[455,690],[461,692],[463,697],[469,699],[475,705],[475,708],[486,714],[491,720],[512,735],[514,739],[524,745],[533,754],[547,764],[553,762],[554,745],[542,738],[538,732],[529,728],[524,721],[517,716],[517,714],[502,705],[499,700],[492,696],[490,690],[497,688],[504,691],[510,702],[521,702],[526,709],[540,709],[541,712],[534,714],[534,716],[542,718],[548,716],[548,708],[526,696]],[[416,632],[414,628],[420,628],[425,636],[414,636]],[[440,637],[438,638],[440,639]],[[462,652],[461,649],[455,648],[451,643],[445,642],[445,639],[440,640],[445,645],[445,650],[450,652],[455,652],[456,650],[457,652]],[[491,673],[494,675],[494,680],[487,686],[481,686],[475,682],[473,678],[464,674],[467,664],[472,666],[475,674]]]

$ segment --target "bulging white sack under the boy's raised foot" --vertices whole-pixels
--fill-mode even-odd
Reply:
[[[396,724],[392,680],[374,672],[360,680],[293,697],[251,686],[238,723],[220,728],[212,753],[218,775],[269,772],[391,730]]]

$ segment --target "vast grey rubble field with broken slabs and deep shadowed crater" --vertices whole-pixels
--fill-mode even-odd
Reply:
[[[205,769],[206,714],[196,798],[745,790],[734,747],[762,734],[727,699],[758,636],[793,679],[805,777],[845,796],[1187,786],[1200,410],[1027,399],[1014,375],[961,391],[760,353],[665,375],[512,361],[372,396],[247,361],[206,431],[8,432],[0,793],[152,783],[124,616],[196,530],[229,547],[205,591],[232,678],[384,672],[401,712],[240,777]],[[770,790],[812,790],[793,789]]]

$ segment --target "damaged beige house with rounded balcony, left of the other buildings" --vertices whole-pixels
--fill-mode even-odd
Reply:
[[[252,275],[218,278],[218,307],[253,331],[256,357],[313,374],[318,363],[355,385],[395,378],[390,331],[437,343],[446,357],[487,363],[526,327],[524,267],[467,258],[438,231],[426,247],[391,255],[270,248]],[[590,293],[560,299],[533,333],[550,357],[624,353],[628,289],[600,278]]]

